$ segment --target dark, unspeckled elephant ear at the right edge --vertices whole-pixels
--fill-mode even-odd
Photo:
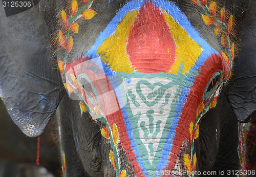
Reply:
[[[256,3],[251,2],[240,31],[241,47],[234,60],[227,97],[239,122],[256,119]]]

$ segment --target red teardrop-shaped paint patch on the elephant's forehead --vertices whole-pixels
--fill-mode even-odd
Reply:
[[[160,9],[145,3],[129,34],[126,47],[138,72],[167,72],[176,60],[176,45]]]

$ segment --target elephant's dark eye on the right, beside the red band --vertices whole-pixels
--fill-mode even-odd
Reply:
[[[207,83],[207,86],[206,86],[205,91],[204,91],[204,95],[203,95],[204,100],[209,99],[210,96],[212,95],[212,93],[214,93],[218,82],[221,81],[221,77],[222,77],[222,72],[221,71],[217,71],[211,77],[211,79]]]

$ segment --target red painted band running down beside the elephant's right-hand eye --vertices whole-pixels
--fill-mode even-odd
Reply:
[[[198,105],[203,101],[205,87],[211,76],[217,71],[223,71],[224,78],[228,74],[227,65],[220,54],[212,54],[200,69],[199,75],[194,81],[194,85],[190,89],[187,100],[183,106],[177,128],[176,137],[173,142],[173,147],[170,150],[169,159],[166,169],[174,169],[177,163],[178,155],[183,156],[185,153],[190,154],[190,149],[184,149],[181,152],[181,146],[189,141],[189,124],[196,121],[196,111]],[[180,143],[182,142],[182,144]],[[182,154],[181,154],[182,153]],[[194,152],[195,153],[195,152]]]

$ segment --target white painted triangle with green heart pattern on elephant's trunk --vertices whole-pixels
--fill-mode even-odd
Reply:
[[[154,100],[159,96],[160,93],[155,95],[155,97],[153,97],[153,98],[147,97],[148,94],[151,94],[152,92],[158,93],[158,91],[164,93],[163,96],[160,98],[160,100],[156,102],[156,104],[154,104],[152,106],[148,106],[145,103],[145,100],[143,101],[143,99],[140,97],[140,94],[138,94],[138,84],[137,83],[141,80],[147,81],[150,83],[149,85],[145,85],[143,83],[140,84],[140,90],[142,91],[142,94],[144,95],[146,101],[148,101],[147,102],[148,104],[151,102],[154,102]],[[136,104],[134,104],[134,102],[132,101],[132,98],[130,96],[127,96],[129,98],[129,103],[130,103],[130,107],[131,107],[133,115],[136,116],[140,113],[140,118],[137,123],[137,127],[139,129],[139,138],[147,150],[148,161],[151,164],[154,160],[157,148],[158,148],[160,140],[162,138],[163,131],[167,131],[167,132],[169,131],[169,128],[165,127],[166,123],[172,124],[172,122],[166,122],[166,120],[169,116],[169,113],[171,110],[171,104],[174,101],[175,94],[179,87],[178,85],[173,85],[164,91],[164,90],[161,90],[161,88],[160,88],[161,86],[158,84],[156,84],[155,87],[153,86],[153,84],[156,83],[156,81],[158,81],[158,82],[161,81],[161,84],[166,85],[166,84],[172,82],[172,79],[131,78],[131,82],[129,84],[125,84],[126,93],[129,90],[132,91],[132,94],[134,94],[136,97],[135,100],[139,104],[139,106],[138,106],[138,104],[136,106]],[[136,84],[137,84],[137,86],[136,86]],[[168,94],[168,96],[166,97],[167,94]],[[127,95],[129,95],[129,94],[127,94]],[[165,103],[166,100],[168,100],[168,102],[164,105],[163,103]],[[148,113],[150,113],[150,114],[148,114]],[[150,116],[152,116],[153,118],[152,117],[149,118]],[[130,120],[130,121],[133,121],[133,120]],[[152,125],[150,126],[150,124],[152,124],[153,126]],[[157,127],[157,125],[160,125],[160,126]],[[158,131],[157,131],[157,128],[158,128]],[[148,131],[147,136],[145,136],[145,131]],[[161,144],[164,145],[165,141],[166,140],[161,141]],[[140,154],[140,155],[142,156],[142,154]],[[158,157],[158,158],[160,158],[160,157]]]

